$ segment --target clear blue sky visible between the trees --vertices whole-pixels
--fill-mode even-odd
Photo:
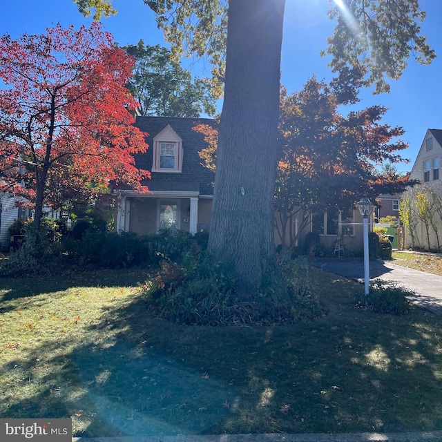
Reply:
[[[358,108],[373,104],[387,107],[383,122],[405,128],[403,140],[410,147],[403,156],[412,162],[398,164],[398,170],[404,172],[410,171],[427,128],[442,128],[442,1],[420,3],[427,12],[422,33],[439,57],[430,66],[417,65],[410,59],[401,79],[392,83],[390,94],[374,96],[366,90],[358,104]],[[103,23],[121,46],[137,44],[140,39],[145,44],[164,44],[162,32],[157,30],[153,14],[142,0],[113,0],[113,5],[117,15],[103,19]],[[327,8],[328,0],[287,0],[281,72],[282,84],[289,93],[300,90],[311,75],[326,81],[332,78],[327,59],[319,56],[334,27],[327,18]],[[17,38],[25,32],[44,33],[56,23],[78,27],[82,23],[88,25],[91,20],[81,16],[71,0],[8,1],[2,5],[0,35],[8,33]],[[198,75],[210,75],[209,66],[202,62],[195,64],[194,69]]]

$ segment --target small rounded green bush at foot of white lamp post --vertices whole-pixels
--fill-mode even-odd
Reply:
[[[379,313],[402,315],[410,311],[409,296],[414,292],[400,287],[396,282],[374,280],[369,287],[368,306]]]

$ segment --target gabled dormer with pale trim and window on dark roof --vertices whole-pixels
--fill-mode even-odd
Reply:
[[[168,124],[153,138],[152,172],[181,172],[182,154],[182,139]]]

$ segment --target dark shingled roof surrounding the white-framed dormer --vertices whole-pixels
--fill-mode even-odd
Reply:
[[[181,173],[151,172],[151,180],[145,180],[143,185],[151,191],[198,191],[200,195],[213,195],[215,175],[202,166],[198,152],[206,148],[204,135],[192,130],[198,124],[215,126],[209,118],[179,118],[179,117],[137,117],[135,126],[148,133],[146,142],[149,148],[146,153],[135,155],[135,164],[140,169],[152,170],[153,138],[167,125],[182,138],[183,160]]]

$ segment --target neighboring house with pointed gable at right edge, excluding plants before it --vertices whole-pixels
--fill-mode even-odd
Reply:
[[[442,192],[441,161],[442,129],[428,129],[410,173],[410,180],[420,180],[422,182],[421,186],[431,186],[432,189],[436,189],[438,192],[440,189]],[[427,223],[427,226],[416,216],[416,227],[414,228],[414,244],[416,247],[430,250],[440,249],[442,219],[440,213],[437,212],[436,207],[432,207],[433,216],[430,223],[432,225]],[[407,245],[412,245],[410,232],[407,234]]]

